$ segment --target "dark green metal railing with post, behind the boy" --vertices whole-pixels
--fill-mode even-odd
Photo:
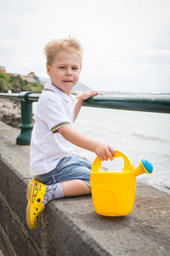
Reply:
[[[0,93],[0,98],[20,99],[20,135],[18,145],[30,145],[32,131],[32,102],[37,102],[40,94],[31,91],[20,93]],[[133,111],[170,113],[170,96],[94,96],[83,102],[83,106],[96,108],[114,108]]]

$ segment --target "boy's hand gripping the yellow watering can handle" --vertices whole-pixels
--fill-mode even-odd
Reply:
[[[114,148],[112,148],[109,145],[103,144],[103,143],[99,143],[95,148],[94,148],[94,153],[97,154],[99,156],[100,160],[108,160],[108,158],[110,160],[113,160],[116,151]]]

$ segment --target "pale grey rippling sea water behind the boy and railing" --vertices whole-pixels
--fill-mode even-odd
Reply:
[[[122,97],[121,94],[119,96]],[[170,194],[169,113],[82,107],[74,128],[127,154],[135,168],[139,166],[140,158],[150,160],[153,165],[152,177],[144,173],[137,177],[137,182]],[[75,154],[91,162],[96,158],[93,152],[76,146]],[[122,158],[116,158],[103,161],[102,166],[115,172],[122,171],[123,163]]]

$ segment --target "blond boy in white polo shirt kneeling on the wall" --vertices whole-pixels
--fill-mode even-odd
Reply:
[[[74,130],[72,125],[82,102],[97,91],[71,96],[82,69],[82,48],[74,38],[52,40],[45,48],[47,73],[37,103],[36,122],[31,136],[31,175],[26,197],[26,220],[31,230],[48,201],[68,196],[89,195],[91,164],[73,156],[72,144],[97,154],[100,160],[113,160],[115,149]]]

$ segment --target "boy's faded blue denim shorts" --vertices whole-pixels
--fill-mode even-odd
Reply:
[[[51,172],[35,176],[37,180],[46,185],[61,183],[71,179],[82,179],[90,188],[90,172],[92,164],[78,156],[71,155],[59,160]]]

